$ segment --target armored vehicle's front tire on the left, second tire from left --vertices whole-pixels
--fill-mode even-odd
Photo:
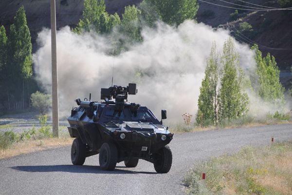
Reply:
[[[117,161],[117,147],[111,142],[106,142],[102,144],[99,151],[99,165],[101,169],[106,171],[112,171],[116,167]]]

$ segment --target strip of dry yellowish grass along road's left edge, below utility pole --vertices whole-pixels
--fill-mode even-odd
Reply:
[[[7,150],[4,151],[1,150],[0,159],[17,156],[21,154],[37,152],[40,150],[68,146],[71,145],[72,142],[73,138],[71,137],[46,138],[41,140],[25,140],[13,144],[13,146]]]

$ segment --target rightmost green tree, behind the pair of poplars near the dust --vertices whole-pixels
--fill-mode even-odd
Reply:
[[[255,44],[252,49],[255,51],[257,80],[254,89],[266,102],[277,102],[284,104],[284,87],[280,83],[280,70],[274,56],[268,53],[262,58],[262,53]],[[258,85],[258,86],[257,86]]]

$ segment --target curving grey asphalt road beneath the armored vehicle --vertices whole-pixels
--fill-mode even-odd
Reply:
[[[170,143],[173,164],[168,174],[157,174],[151,163],[136,168],[118,163],[102,171],[98,155],[83,166],[73,166],[70,147],[46,150],[0,160],[2,195],[176,195],[183,194],[183,176],[201,160],[234,153],[243,146],[292,140],[292,125],[224,129],[175,135]]]

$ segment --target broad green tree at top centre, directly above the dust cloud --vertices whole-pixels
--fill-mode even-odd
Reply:
[[[179,25],[184,20],[195,19],[199,4],[197,0],[144,0],[153,5],[161,19],[168,24]]]

